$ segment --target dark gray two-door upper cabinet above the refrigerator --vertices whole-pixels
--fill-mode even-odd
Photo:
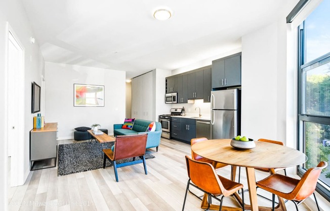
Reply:
[[[241,53],[212,61],[212,88],[241,85]]]

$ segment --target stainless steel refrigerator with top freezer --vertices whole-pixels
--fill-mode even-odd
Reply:
[[[240,90],[211,92],[211,138],[233,138],[240,133]]]

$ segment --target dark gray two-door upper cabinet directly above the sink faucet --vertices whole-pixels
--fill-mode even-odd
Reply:
[[[203,98],[203,71],[188,74],[188,99]]]

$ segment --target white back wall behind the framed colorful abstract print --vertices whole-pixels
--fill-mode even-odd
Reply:
[[[74,128],[101,125],[113,134],[113,124],[126,114],[126,72],[46,62],[46,122],[58,122],[59,139],[73,138]],[[73,84],[104,85],[104,107],[74,107]]]

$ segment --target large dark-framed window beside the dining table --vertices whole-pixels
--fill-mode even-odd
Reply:
[[[330,160],[330,0],[324,0],[299,26],[299,149],[307,162],[303,174]],[[330,163],[329,163],[330,165]],[[330,166],[321,173],[317,190],[330,199]]]

